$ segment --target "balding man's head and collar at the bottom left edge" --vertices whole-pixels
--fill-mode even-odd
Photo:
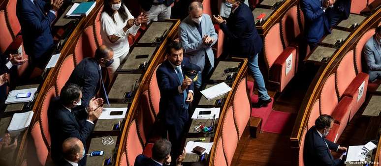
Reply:
[[[78,162],[86,156],[85,147],[81,140],[75,137],[64,140],[62,153],[64,154],[64,159],[59,166],[81,166]]]

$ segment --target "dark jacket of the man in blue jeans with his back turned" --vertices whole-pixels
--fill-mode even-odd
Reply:
[[[261,52],[263,42],[253,20],[254,16],[249,6],[241,4],[234,13],[230,13],[226,24],[220,24],[227,36],[231,55],[248,57]]]

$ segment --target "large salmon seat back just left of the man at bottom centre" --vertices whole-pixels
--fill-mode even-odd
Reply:
[[[126,152],[128,166],[133,166],[136,156],[143,153],[143,146],[140,143],[135,120],[128,127]]]

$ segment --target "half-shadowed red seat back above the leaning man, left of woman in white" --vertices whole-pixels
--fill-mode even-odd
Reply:
[[[97,45],[93,26],[85,28],[77,40],[74,49],[74,63],[77,65],[85,57],[94,57]]]

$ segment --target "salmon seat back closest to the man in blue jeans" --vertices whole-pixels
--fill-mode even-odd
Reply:
[[[283,52],[281,41],[281,31],[279,23],[270,28],[264,37],[264,56],[269,69],[274,64],[275,60]]]

